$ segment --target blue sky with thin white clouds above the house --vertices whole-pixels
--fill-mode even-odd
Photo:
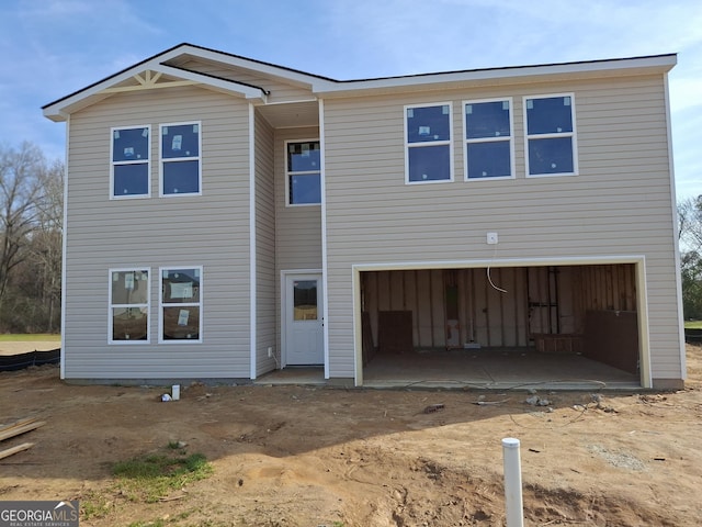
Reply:
[[[335,79],[678,54],[677,193],[702,194],[699,0],[0,0],[0,143],[64,156],[41,106],[182,42]]]

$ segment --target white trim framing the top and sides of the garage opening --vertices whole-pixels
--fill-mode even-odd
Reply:
[[[364,271],[399,271],[421,269],[482,269],[498,267],[544,267],[544,266],[595,266],[634,264],[636,269],[639,367],[642,388],[653,388],[650,371],[650,340],[648,332],[648,294],[646,287],[646,257],[643,255],[621,255],[601,257],[561,257],[561,258],[503,258],[479,260],[434,260],[396,261],[376,264],[354,264],[351,266],[353,289],[353,350],[354,385],[363,385],[363,332],[361,324],[361,273]]]

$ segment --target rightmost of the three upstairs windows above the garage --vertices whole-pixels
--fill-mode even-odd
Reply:
[[[526,177],[578,172],[573,94],[524,98]]]

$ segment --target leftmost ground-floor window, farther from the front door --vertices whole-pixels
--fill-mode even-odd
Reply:
[[[110,344],[149,341],[149,270],[110,270]]]

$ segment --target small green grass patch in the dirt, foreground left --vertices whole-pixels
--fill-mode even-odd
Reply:
[[[188,456],[170,445],[167,450],[114,463],[112,473],[120,492],[134,502],[155,503],[174,490],[212,475],[212,466],[202,453]]]

